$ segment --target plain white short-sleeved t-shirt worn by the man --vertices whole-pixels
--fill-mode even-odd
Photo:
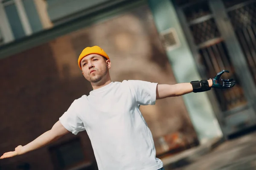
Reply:
[[[99,170],[158,170],[154,141],[140,105],[154,105],[157,83],[124,80],[76,99],[60,117],[73,134],[86,130]]]

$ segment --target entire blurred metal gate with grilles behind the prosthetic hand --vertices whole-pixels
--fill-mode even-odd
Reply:
[[[173,0],[201,77],[227,69],[223,77],[236,79],[207,92],[226,137],[256,125],[256,2],[235,2]]]

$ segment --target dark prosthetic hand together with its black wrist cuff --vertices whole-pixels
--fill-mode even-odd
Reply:
[[[229,73],[228,70],[222,70],[216,74],[216,76],[212,79],[212,88],[232,88],[236,84],[236,81],[233,79],[220,79],[221,75],[225,72]],[[194,93],[211,90],[207,80],[192,81],[190,83],[193,87]]]

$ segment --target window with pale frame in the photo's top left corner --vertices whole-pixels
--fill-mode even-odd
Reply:
[[[0,0],[0,45],[42,30],[34,0]]]

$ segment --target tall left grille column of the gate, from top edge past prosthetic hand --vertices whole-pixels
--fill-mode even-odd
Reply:
[[[218,71],[227,69],[230,73],[224,74],[221,78],[232,77],[236,79],[236,86],[231,89],[213,89],[221,110],[224,111],[225,116],[228,116],[230,113],[228,111],[247,105],[247,100],[230,62],[230,55],[225,42],[217,28],[208,1],[183,0],[183,2],[188,3],[182,4],[181,8],[198,49],[200,57],[197,61],[199,65],[204,66],[207,77],[214,77]]]

